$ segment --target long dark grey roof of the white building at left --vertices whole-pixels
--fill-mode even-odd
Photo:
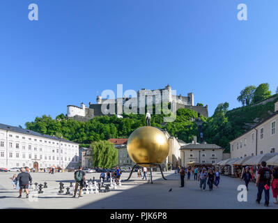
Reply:
[[[51,135],[48,135],[48,134],[34,132],[32,130],[26,130],[24,128],[19,128],[19,127],[15,127],[15,126],[11,126],[11,125],[5,125],[5,124],[1,124],[1,123],[0,123],[0,129],[1,130],[8,130],[8,131],[13,131],[13,132],[18,132],[18,133],[22,133],[22,134],[29,134],[29,135],[33,135],[33,136],[36,136],[36,137],[43,137],[43,138],[47,138],[47,139],[66,141],[68,143],[77,144],[76,142],[69,141],[67,139],[62,139],[62,138],[59,138],[59,137],[52,137]]]

